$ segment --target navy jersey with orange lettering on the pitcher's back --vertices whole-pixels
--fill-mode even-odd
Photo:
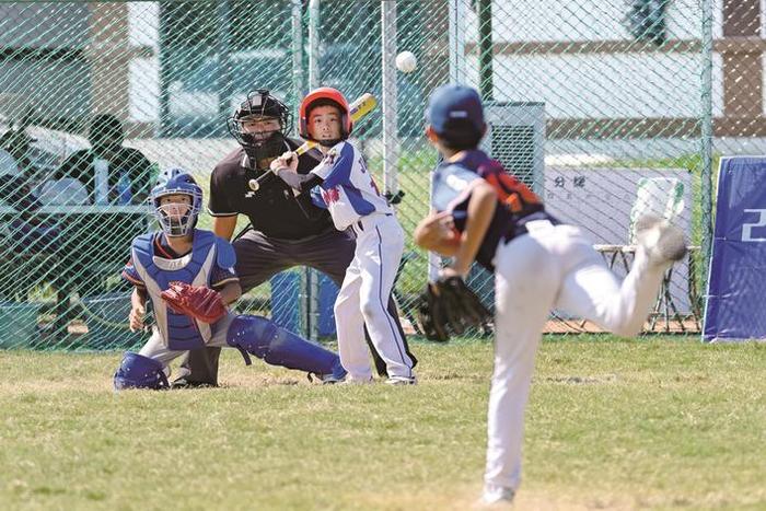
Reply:
[[[433,175],[431,206],[440,212],[451,211],[457,232],[465,229],[468,199],[479,179],[495,188],[500,202],[476,254],[476,262],[494,271],[498,243],[526,233],[524,225],[532,220],[559,222],[545,211],[543,202],[526,185],[508,174],[500,163],[474,150],[466,151],[459,161],[440,163]]]

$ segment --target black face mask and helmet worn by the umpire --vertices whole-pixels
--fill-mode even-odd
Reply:
[[[259,161],[285,152],[285,135],[292,129],[292,115],[269,91],[257,89],[247,93],[247,98],[227,119],[227,127],[247,155]]]

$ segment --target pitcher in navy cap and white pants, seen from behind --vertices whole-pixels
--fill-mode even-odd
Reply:
[[[535,352],[550,310],[635,336],[686,243],[666,221],[639,219],[636,258],[620,283],[579,228],[548,214],[532,190],[476,149],[486,125],[475,90],[444,85],[434,91],[428,123],[426,133],[443,162],[433,175],[432,212],[418,224],[415,241],[453,262],[430,284],[421,322],[429,337],[441,340],[480,323],[486,311],[462,279],[474,259],[495,272],[495,372],[483,501],[512,501],[521,481]]]

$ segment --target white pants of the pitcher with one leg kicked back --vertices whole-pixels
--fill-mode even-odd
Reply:
[[[620,336],[640,333],[666,266],[650,265],[639,246],[622,284],[579,228],[532,231],[495,256],[495,373],[489,394],[485,484],[521,481],[524,409],[535,352],[554,307]]]

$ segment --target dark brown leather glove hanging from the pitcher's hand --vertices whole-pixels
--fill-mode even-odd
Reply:
[[[460,277],[431,282],[420,294],[418,323],[430,340],[445,342],[472,326],[484,326],[489,311]]]

